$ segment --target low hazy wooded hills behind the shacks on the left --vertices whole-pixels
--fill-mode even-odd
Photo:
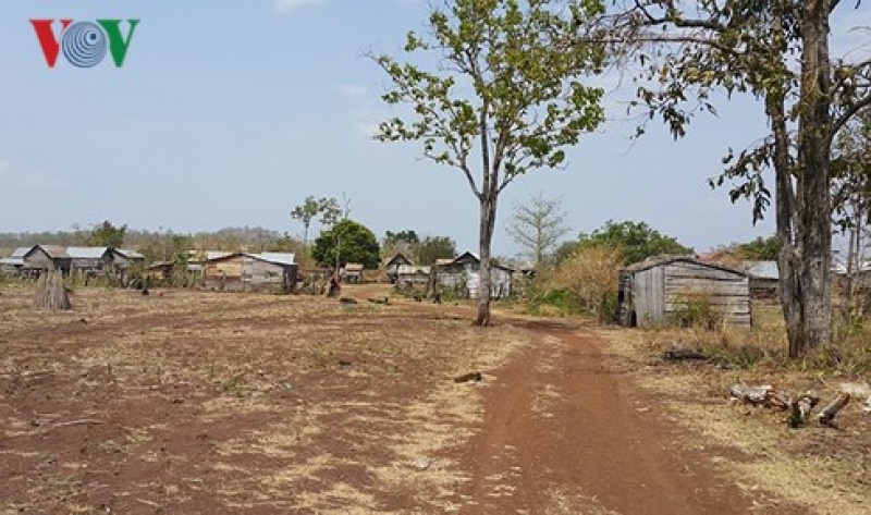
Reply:
[[[12,254],[17,247],[30,245],[89,246],[94,245],[94,231],[71,230],[58,232],[0,233],[0,257]],[[98,245],[102,246],[102,245]],[[138,250],[149,261],[171,261],[188,250],[228,252],[296,252],[300,243],[263,228],[226,228],[214,232],[175,233],[172,231],[139,231],[123,228],[123,248]]]

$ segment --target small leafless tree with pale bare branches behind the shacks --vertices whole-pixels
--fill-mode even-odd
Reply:
[[[566,216],[562,198],[549,198],[539,192],[527,203],[514,205],[505,231],[520,246],[522,254],[533,260],[538,270],[556,249],[560,240],[569,233]]]

